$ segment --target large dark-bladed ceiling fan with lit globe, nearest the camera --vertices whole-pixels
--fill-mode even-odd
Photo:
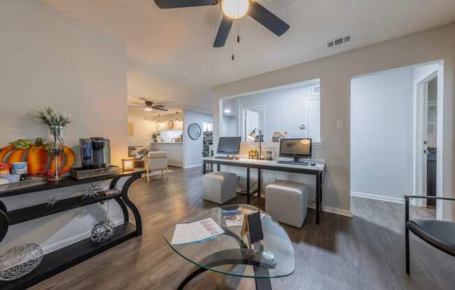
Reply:
[[[223,47],[231,30],[234,20],[250,15],[254,20],[265,26],[277,36],[282,36],[290,26],[274,13],[253,0],[154,0],[161,9],[182,8],[195,6],[210,6],[220,4],[223,10],[223,20],[216,34],[214,47]]]

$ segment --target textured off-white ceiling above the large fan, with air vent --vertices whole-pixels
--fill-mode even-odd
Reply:
[[[238,21],[241,43],[234,43],[235,26],[227,45],[215,49],[219,6],[160,10],[153,0],[40,1],[127,43],[130,98],[200,112],[211,112],[210,88],[218,84],[455,20],[454,0],[258,0],[290,30],[278,38],[244,17]],[[346,34],[352,43],[325,49],[326,40]]]

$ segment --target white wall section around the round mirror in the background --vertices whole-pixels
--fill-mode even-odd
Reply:
[[[201,137],[193,140],[188,135],[188,127],[192,123],[197,123],[202,131],[203,122],[213,123],[214,117],[208,114],[184,111],[184,168],[202,166],[203,134],[201,132]]]

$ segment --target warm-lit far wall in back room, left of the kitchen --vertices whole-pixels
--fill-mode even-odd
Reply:
[[[134,124],[134,136],[128,136],[128,146],[149,148],[151,135],[156,131],[156,121],[151,117],[128,112],[128,123]]]

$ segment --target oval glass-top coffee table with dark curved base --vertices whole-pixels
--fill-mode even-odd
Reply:
[[[206,270],[223,275],[254,278],[256,289],[261,290],[271,289],[271,278],[286,277],[294,273],[294,248],[283,227],[270,215],[260,211],[264,239],[262,243],[255,243],[251,250],[246,244],[246,238],[244,241],[240,238],[241,226],[227,227],[223,220],[223,212],[236,210],[242,213],[260,211],[259,208],[245,204],[221,206],[191,215],[178,223],[188,224],[211,217],[224,231],[224,234],[199,242],[173,245],[172,238],[177,224],[167,229],[164,237],[172,250],[199,267],[181,282],[178,289],[184,289],[188,282]]]

